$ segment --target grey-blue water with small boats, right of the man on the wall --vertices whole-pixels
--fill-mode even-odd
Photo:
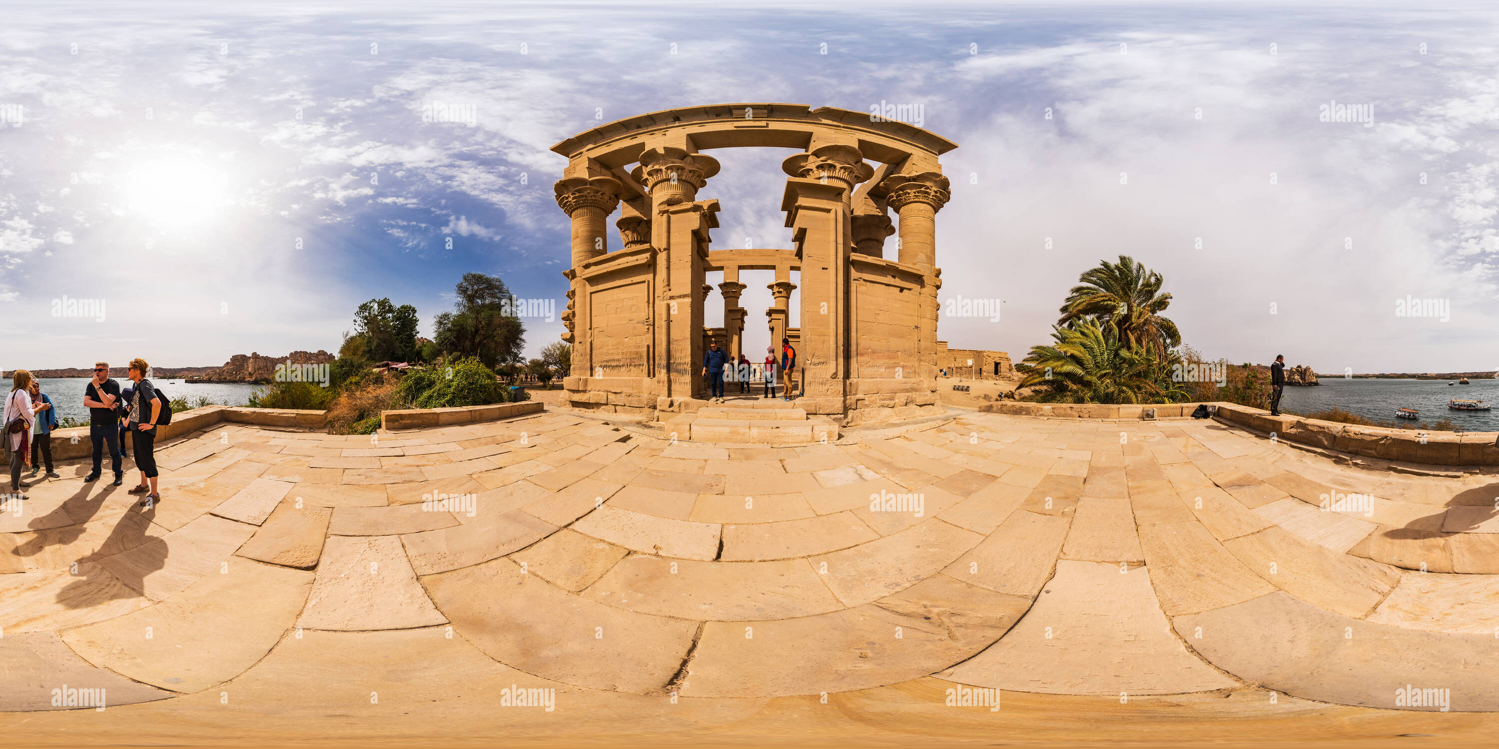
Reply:
[[[1325,377],[1316,388],[1288,386],[1280,404],[1298,412],[1340,407],[1381,421],[1396,421],[1397,407],[1412,407],[1426,424],[1447,416],[1465,431],[1499,431],[1499,380],[1471,382],[1448,386],[1447,380]],[[1453,410],[1450,398],[1486,400],[1495,410]]]

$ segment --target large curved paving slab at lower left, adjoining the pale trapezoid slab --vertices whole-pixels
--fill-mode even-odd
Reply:
[[[295,622],[312,572],[235,559],[159,605],[81,626],[63,641],[90,664],[174,692],[255,665]],[[150,637],[145,637],[150,632]]]

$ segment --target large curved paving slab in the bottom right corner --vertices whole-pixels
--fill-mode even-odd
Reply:
[[[1346,706],[1441,710],[1436,704],[1399,704],[1397,691],[1450,689],[1451,710],[1499,710],[1499,653],[1492,634],[1363,622],[1280,590],[1181,616],[1172,625],[1213,665],[1282,694]]]

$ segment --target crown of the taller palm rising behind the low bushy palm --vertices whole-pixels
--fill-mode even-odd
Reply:
[[[1100,261],[1078,280],[1082,283],[1067,292],[1057,325],[1070,328],[1082,318],[1114,324],[1121,345],[1142,346],[1162,360],[1181,345],[1177,324],[1160,316],[1171,306],[1171,294],[1160,294],[1159,273],[1120,255],[1120,262]]]

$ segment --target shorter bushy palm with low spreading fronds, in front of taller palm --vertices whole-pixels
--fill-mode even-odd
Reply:
[[[1126,346],[1112,322],[1078,318],[1052,330],[1055,345],[1033,346],[1022,361],[1030,374],[1021,388],[1039,388],[1040,403],[1180,403],[1187,398],[1171,379],[1169,360],[1142,346]]]

